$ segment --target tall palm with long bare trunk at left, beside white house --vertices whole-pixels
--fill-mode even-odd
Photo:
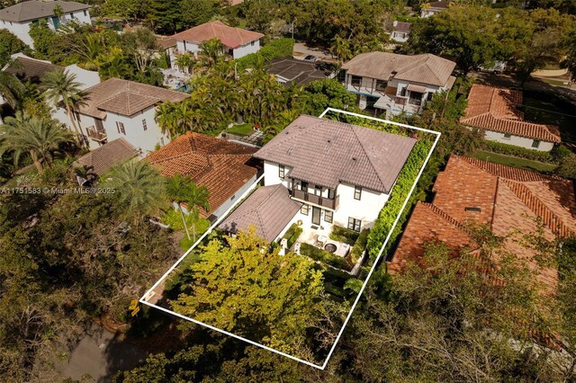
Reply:
[[[60,69],[48,72],[42,78],[44,97],[54,106],[58,105],[60,101],[64,103],[72,127],[76,130],[76,134],[82,138],[80,143],[87,146],[82,126],[76,124],[76,119],[73,115],[73,110],[86,101],[87,94],[82,90],[81,86],[80,83],[76,82],[75,74]]]

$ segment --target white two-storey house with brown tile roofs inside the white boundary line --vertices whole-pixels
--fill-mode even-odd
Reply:
[[[250,195],[220,228],[235,232],[255,226],[274,240],[299,221],[325,233],[333,225],[356,231],[371,227],[415,143],[381,130],[300,116],[254,155],[264,161],[264,191]]]

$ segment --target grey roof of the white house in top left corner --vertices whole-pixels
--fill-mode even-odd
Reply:
[[[0,20],[6,22],[28,22],[54,15],[54,7],[60,6],[63,13],[82,11],[91,5],[74,1],[23,1],[0,10]]]

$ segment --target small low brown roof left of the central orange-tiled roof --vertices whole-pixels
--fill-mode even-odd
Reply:
[[[93,166],[95,174],[104,174],[112,166],[128,161],[138,154],[138,149],[132,147],[130,142],[124,138],[118,138],[81,156],[76,160],[75,165]]]

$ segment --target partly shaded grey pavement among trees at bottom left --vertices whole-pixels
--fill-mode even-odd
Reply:
[[[92,324],[85,337],[56,369],[66,378],[83,382],[111,382],[116,372],[130,370],[146,360],[147,352]]]

